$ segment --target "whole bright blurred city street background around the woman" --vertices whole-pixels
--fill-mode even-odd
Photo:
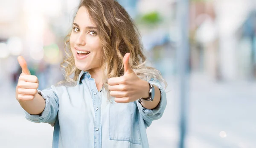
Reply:
[[[182,138],[186,148],[256,148],[256,0],[118,1],[169,84],[166,111],[147,129],[151,148],[180,148]],[[39,89],[63,80],[64,37],[79,3],[0,0],[0,148],[51,147],[53,127],[27,121],[15,99],[17,56],[39,78]],[[189,20],[180,24],[184,15]],[[177,87],[183,44],[186,88]]]

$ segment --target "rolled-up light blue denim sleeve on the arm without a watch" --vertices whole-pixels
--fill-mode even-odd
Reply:
[[[54,86],[48,89],[38,90],[38,94],[45,100],[45,108],[41,114],[29,114],[23,109],[25,118],[35,123],[49,123],[54,126],[58,113],[58,95]]]

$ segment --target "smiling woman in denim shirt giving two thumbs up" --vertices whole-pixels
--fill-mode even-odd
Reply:
[[[37,77],[18,57],[16,98],[26,119],[54,126],[52,148],[148,148],[145,130],[163,115],[160,82],[166,82],[145,66],[125,9],[113,0],[84,0],[66,45],[61,66],[72,86],[38,90]]]

